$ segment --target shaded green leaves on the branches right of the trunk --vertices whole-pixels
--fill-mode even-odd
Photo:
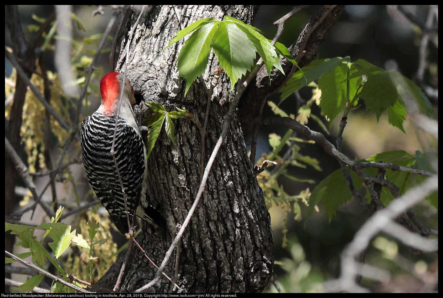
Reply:
[[[317,81],[316,86],[321,92],[319,107],[323,115],[330,119],[330,125],[342,112],[343,117],[347,117],[351,109],[359,104],[359,99],[362,99],[368,111],[376,115],[377,121],[386,112],[389,123],[404,133],[405,99],[414,99],[427,116],[431,117],[432,115],[431,103],[420,88],[408,78],[396,71],[387,72],[363,59],[355,62],[350,62],[350,57],[323,59],[311,62],[302,70],[303,73],[295,73],[288,80],[288,84],[281,89],[280,103],[293,92],[310,84],[315,84],[314,81]],[[305,111],[306,109],[303,110],[303,107],[300,110],[302,112],[299,111],[298,120],[302,119],[300,116],[306,113],[310,114]],[[379,162],[382,160],[386,163],[406,167],[417,164],[419,168],[423,168],[424,162],[418,162],[420,157],[423,157],[421,160],[429,160],[429,157],[420,153],[420,151],[416,152],[416,157],[412,157],[403,150],[395,150],[379,153],[368,160],[362,161]],[[358,185],[362,183],[361,178],[355,172],[350,172],[353,183],[358,188]],[[364,172],[370,176],[377,175],[377,169],[375,168],[364,169]],[[385,178],[400,187],[400,195],[404,194],[404,191],[411,186],[412,182],[412,174],[407,172],[387,170]],[[421,181],[422,178],[419,176],[417,180]],[[432,206],[438,208],[435,195],[431,195],[427,199]],[[338,169],[321,181],[312,191],[309,198],[307,218],[312,214],[319,201],[323,200],[329,220],[331,220],[338,207],[351,197],[352,194],[342,170]],[[366,199],[370,200],[369,193],[366,193]],[[381,202],[389,204],[392,199],[394,199],[392,194],[386,188],[383,188]]]

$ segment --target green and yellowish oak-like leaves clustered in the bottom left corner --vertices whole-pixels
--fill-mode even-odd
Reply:
[[[29,252],[16,254],[17,257],[19,257],[20,259],[24,259],[28,256],[31,256],[32,263],[42,269],[44,269],[47,260],[49,260],[63,276],[63,278],[65,280],[68,280],[68,273],[62,268],[62,266],[60,266],[58,258],[62,256],[63,252],[65,252],[66,249],[70,246],[71,241],[76,242],[79,246],[89,248],[90,260],[93,260],[93,245],[101,245],[105,243],[108,239],[100,240],[93,243],[93,238],[95,237],[95,234],[97,233],[97,229],[99,227],[98,223],[95,222],[95,220],[88,222],[88,225],[90,227],[88,229],[90,240],[84,240],[82,235],[80,234],[76,236],[76,230],[74,229],[73,231],[71,231],[70,225],[58,222],[60,216],[62,215],[62,212],[63,208],[62,206],[60,206],[55,214],[55,218],[51,218],[50,223],[44,223],[41,225],[37,225],[36,227],[30,225],[16,225],[5,222],[4,230],[5,232],[10,230],[11,234],[15,234],[19,237],[20,241],[17,242],[15,246],[21,246],[30,250]],[[46,230],[40,241],[34,235],[35,230],[37,229]],[[51,253],[48,252],[46,248],[44,248],[42,245],[43,240],[47,236],[49,236],[53,240],[52,242],[49,242],[48,245],[51,248],[54,257],[51,256]],[[12,262],[14,262],[12,258],[5,258],[5,264],[9,264]],[[90,272],[92,272],[92,264],[90,264],[90,266],[91,267],[89,268],[89,270]],[[34,287],[37,287],[39,285],[42,279],[43,275],[35,275],[28,279],[21,286],[19,286],[19,289],[21,292],[30,292],[32,289],[34,289]],[[78,287],[82,287],[81,284],[76,283],[76,285]],[[66,289],[66,287],[60,283],[54,283],[51,287],[51,291],[54,293],[63,293],[66,290],[69,289]]]

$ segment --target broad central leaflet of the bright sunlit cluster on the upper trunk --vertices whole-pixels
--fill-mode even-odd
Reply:
[[[231,80],[231,90],[254,63],[256,53],[254,45],[248,36],[234,23],[221,22],[218,24],[212,40],[214,53],[218,55],[221,68]]]

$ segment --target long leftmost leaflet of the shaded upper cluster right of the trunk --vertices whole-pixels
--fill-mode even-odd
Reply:
[[[281,88],[280,103],[298,91],[300,88],[311,84],[314,80],[318,80],[324,73],[330,72],[332,69],[341,65],[343,62],[350,62],[349,57],[335,57],[331,59],[323,59],[312,61],[309,65],[302,68],[303,72],[296,72],[288,83]]]

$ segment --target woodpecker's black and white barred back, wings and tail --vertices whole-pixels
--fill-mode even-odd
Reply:
[[[108,210],[120,233],[125,234],[128,233],[128,219],[124,196],[110,153],[115,122],[115,115],[106,116],[99,112],[86,117],[81,128],[82,155],[86,176],[97,198]],[[144,144],[140,134],[122,118],[119,118],[117,123],[114,155],[126,194],[129,222],[132,222],[134,214],[155,225],[158,225],[159,221],[164,221],[158,211],[147,202],[143,204],[144,214],[140,214],[140,210],[137,210],[140,206],[140,192],[145,171]]]

